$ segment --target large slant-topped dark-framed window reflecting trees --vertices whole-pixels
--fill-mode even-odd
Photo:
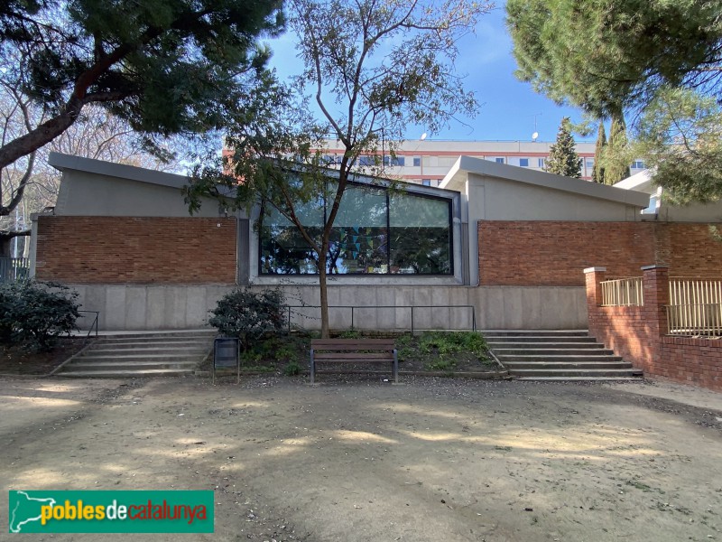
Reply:
[[[297,210],[312,238],[320,240],[325,212],[322,199]],[[260,275],[318,274],[313,250],[273,208],[262,213],[259,244]],[[327,272],[452,275],[452,254],[450,200],[349,184],[331,230]]]

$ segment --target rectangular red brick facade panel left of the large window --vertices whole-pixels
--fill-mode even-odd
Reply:
[[[37,239],[40,280],[236,283],[234,219],[40,216]]]

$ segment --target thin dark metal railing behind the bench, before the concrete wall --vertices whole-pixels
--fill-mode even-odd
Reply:
[[[292,322],[293,316],[296,316],[296,321],[301,321],[303,319],[309,319],[309,320],[318,320],[319,319],[319,316],[316,316],[316,315],[310,316],[310,315],[306,314],[305,311],[303,311],[303,309],[313,309],[314,311],[317,309],[320,310],[320,305],[287,305],[286,309],[287,309],[287,315],[288,315],[287,317],[288,317],[289,332],[291,332],[292,326],[294,326],[294,325],[296,327],[303,328],[303,326],[299,325],[298,323]],[[395,311],[403,311],[404,313],[409,314],[409,319],[407,320],[407,322],[409,322],[408,326],[404,325],[404,326],[400,327],[400,326],[396,326],[394,324],[393,329],[410,330],[413,333],[414,330],[416,329],[416,327],[418,326],[418,324],[420,323],[420,318],[419,318],[420,310],[425,310],[425,311],[433,310],[435,312],[435,313],[429,314],[425,319],[421,318],[421,324],[423,324],[423,322],[433,322],[434,320],[439,321],[440,319],[442,319],[442,317],[438,313],[438,311],[440,309],[465,309],[465,310],[467,310],[467,314],[468,314],[468,316],[467,316],[468,325],[464,326],[463,328],[461,328],[461,327],[450,328],[449,327],[449,328],[435,328],[435,329],[454,329],[454,330],[468,329],[472,332],[477,331],[477,312],[476,312],[476,308],[474,307],[474,305],[329,305],[329,313],[331,312],[331,310],[338,310],[338,309],[345,310],[347,313],[348,313],[348,311],[350,311],[350,322],[347,320],[347,323],[344,325],[341,325],[341,326],[331,324],[330,327],[332,329],[337,329],[337,330],[342,329],[344,327],[347,327],[348,329],[351,329],[351,330],[356,329],[356,323],[358,322],[356,313],[359,311],[363,312],[363,311],[392,310],[394,312]],[[414,313],[414,311],[416,311],[416,313]],[[343,320],[343,318],[337,318],[334,320],[335,320],[334,323],[338,323],[338,321]],[[450,323],[449,320],[450,320],[450,313],[449,313],[449,319],[447,319],[446,323]],[[393,321],[394,322],[396,321],[395,313],[393,315]],[[376,322],[379,322],[378,318],[376,319]],[[348,325],[348,323],[350,323],[350,325]],[[430,324],[430,327],[432,327],[431,324]],[[377,325],[377,326],[371,326],[371,327],[364,326],[359,329],[382,329],[382,328],[379,325]],[[383,329],[388,329],[388,328],[384,327]]]

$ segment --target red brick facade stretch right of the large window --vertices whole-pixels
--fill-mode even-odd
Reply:
[[[481,285],[583,286],[579,269],[606,266],[639,276],[663,264],[674,276],[717,276],[722,244],[706,224],[481,220]]]

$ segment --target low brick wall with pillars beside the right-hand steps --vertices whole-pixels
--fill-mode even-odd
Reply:
[[[662,266],[644,270],[644,305],[603,307],[599,283],[603,271],[587,275],[589,334],[646,376],[722,391],[722,340],[666,335],[664,305],[669,304],[669,271]]]

